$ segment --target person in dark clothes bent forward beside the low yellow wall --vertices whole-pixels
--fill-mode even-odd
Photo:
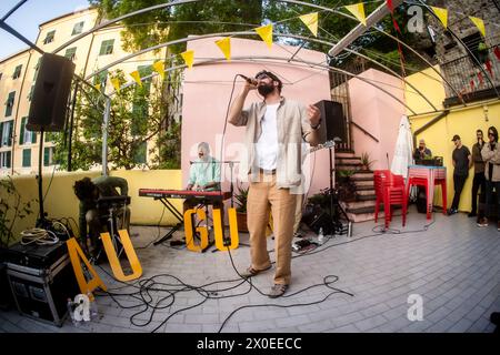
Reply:
[[[120,192],[117,189],[120,189]],[[98,241],[109,213],[108,211],[99,211],[97,202],[101,197],[127,196],[129,185],[127,180],[118,176],[98,176],[92,180],[83,178],[74,182],[73,190],[80,200],[80,239],[86,242],[88,252],[96,257],[102,248],[102,244],[98,243]],[[116,216],[118,230],[128,230],[130,225],[130,209],[126,207],[124,219],[123,209],[119,209]],[[89,225],[89,234],[87,234],[87,225]]]

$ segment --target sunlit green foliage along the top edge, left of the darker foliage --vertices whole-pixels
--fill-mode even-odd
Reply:
[[[163,0],[90,0],[108,19],[164,3]],[[226,31],[241,31],[259,26],[262,18],[261,0],[210,0],[153,10],[123,20],[123,49],[133,51],[167,41]],[[172,45],[179,53],[186,43]]]

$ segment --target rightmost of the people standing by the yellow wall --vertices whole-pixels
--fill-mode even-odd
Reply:
[[[481,155],[484,161],[486,211],[478,226],[488,226],[488,217],[491,215],[491,203],[493,202],[493,189],[497,192],[497,215],[500,213],[500,150],[498,131],[494,126],[488,129],[488,143],[482,148]],[[500,222],[497,222],[497,229],[500,231]]]

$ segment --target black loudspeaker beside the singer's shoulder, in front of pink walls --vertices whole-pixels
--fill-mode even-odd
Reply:
[[[342,104],[336,101],[321,100],[314,105],[321,111],[321,125],[326,128],[326,140],[333,141],[334,138],[339,138],[346,143],[348,134]]]

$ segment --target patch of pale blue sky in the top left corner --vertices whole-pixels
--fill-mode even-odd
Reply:
[[[0,18],[19,2],[20,0],[0,0]],[[40,23],[88,7],[87,0],[28,0],[6,20],[6,23],[34,42]],[[26,48],[28,45],[24,42],[0,29],[0,59]]]

